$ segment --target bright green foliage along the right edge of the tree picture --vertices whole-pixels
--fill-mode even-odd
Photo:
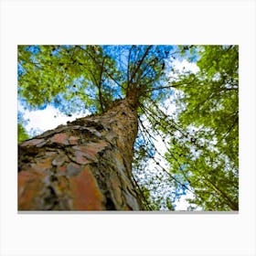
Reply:
[[[176,134],[166,154],[196,194],[190,203],[208,210],[239,208],[239,49],[199,47],[197,74],[179,76]]]

